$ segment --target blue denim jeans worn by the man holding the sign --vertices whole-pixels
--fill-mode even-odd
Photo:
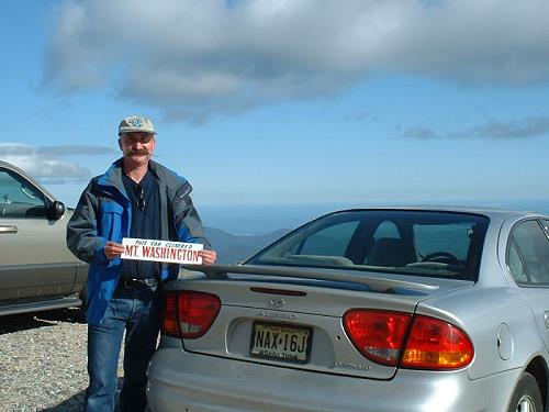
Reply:
[[[146,370],[158,338],[159,302],[159,292],[147,286],[119,287],[107,308],[104,323],[88,325],[90,383],[86,391],[86,411],[114,411],[124,330],[124,385],[120,410],[145,410]]]

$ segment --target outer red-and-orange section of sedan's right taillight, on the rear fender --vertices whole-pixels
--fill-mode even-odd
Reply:
[[[448,322],[415,315],[401,366],[414,369],[456,369],[473,359],[469,336]]]

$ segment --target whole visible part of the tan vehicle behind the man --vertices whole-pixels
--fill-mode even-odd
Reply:
[[[0,315],[82,303],[87,268],[65,241],[71,213],[0,160]]]

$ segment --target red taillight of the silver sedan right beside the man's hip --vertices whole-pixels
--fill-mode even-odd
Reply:
[[[188,339],[200,337],[215,321],[220,308],[221,300],[215,294],[168,292],[161,311],[163,333]]]

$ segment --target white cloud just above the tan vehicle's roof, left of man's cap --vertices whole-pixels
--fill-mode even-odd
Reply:
[[[83,182],[91,177],[87,167],[67,162],[68,155],[103,155],[113,149],[96,146],[31,146],[19,143],[0,143],[0,159],[25,170],[48,183]]]

